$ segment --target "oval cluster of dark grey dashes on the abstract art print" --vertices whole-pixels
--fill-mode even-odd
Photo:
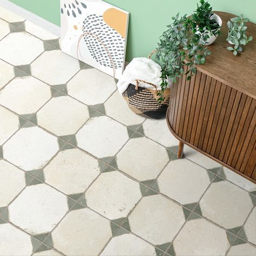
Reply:
[[[114,68],[122,68],[125,39],[104,22],[103,16],[91,14],[85,18],[83,24],[83,32],[94,33],[109,50],[114,62]],[[84,35],[84,41],[93,59],[100,65],[113,68],[107,51],[95,37]]]

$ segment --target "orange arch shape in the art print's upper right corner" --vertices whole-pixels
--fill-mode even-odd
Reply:
[[[123,38],[126,37],[127,14],[115,8],[107,9],[103,14],[105,23],[116,30]]]

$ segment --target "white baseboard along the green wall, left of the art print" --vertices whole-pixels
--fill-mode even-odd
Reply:
[[[19,15],[19,16],[23,17],[24,19],[27,19],[28,21],[30,21],[38,26],[41,26],[41,28],[48,30],[49,32],[60,37],[60,27],[59,26],[57,26],[49,21],[46,21],[45,19],[33,14],[32,12],[30,12],[28,10],[25,10],[21,6],[11,3],[8,0],[0,0],[0,6],[11,11],[11,12],[14,12],[16,15]]]

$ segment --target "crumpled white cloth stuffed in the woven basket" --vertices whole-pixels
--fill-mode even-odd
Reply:
[[[125,92],[129,84],[136,85],[135,79],[145,80],[152,83],[160,89],[161,84],[161,67],[152,59],[149,58],[134,58],[126,69],[117,83],[120,94]],[[152,85],[139,83],[140,87],[154,89]]]

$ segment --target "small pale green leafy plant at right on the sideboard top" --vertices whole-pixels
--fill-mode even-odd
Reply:
[[[227,22],[227,26],[229,29],[227,41],[230,41],[234,44],[234,48],[228,46],[227,50],[233,51],[234,56],[237,56],[238,52],[242,51],[241,45],[246,45],[253,39],[252,36],[246,36],[246,22],[248,21],[249,19],[244,18],[244,15],[241,14],[239,17],[231,18],[231,20]]]

